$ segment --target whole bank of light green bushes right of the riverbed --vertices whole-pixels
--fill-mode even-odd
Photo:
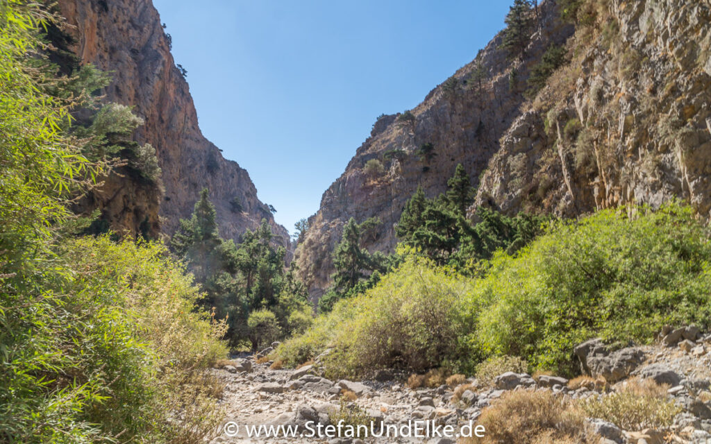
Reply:
[[[409,251],[279,353],[298,364],[332,347],[324,364],[334,376],[442,366],[473,374],[504,355],[574,374],[573,347],[591,337],[648,342],[665,324],[711,326],[708,239],[693,210],[668,205],[552,223],[513,256],[494,254],[479,278]]]

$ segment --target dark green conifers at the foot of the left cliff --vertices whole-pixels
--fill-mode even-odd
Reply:
[[[171,248],[185,261],[205,290],[201,305],[215,308],[218,317],[228,317],[232,345],[245,339],[260,344],[249,326],[250,313],[266,309],[277,316],[277,337],[291,332],[294,312],[310,313],[306,290],[296,280],[294,269],[284,270],[284,247],[274,246],[274,234],[266,220],[252,232],[242,234],[240,244],[220,237],[215,207],[203,190],[190,220],[171,239]],[[294,264],[295,265],[295,264]],[[296,323],[299,328],[303,323]],[[261,328],[261,327],[260,327]],[[255,336],[257,335],[257,336]]]

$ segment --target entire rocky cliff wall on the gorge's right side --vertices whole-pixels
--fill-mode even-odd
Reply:
[[[331,251],[348,218],[380,217],[365,247],[392,251],[405,201],[417,185],[430,197],[441,193],[457,163],[478,187],[471,217],[479,206],[576,217],[672,199],[711,215],[708,2],[585,0],[563,9],[558,1],[540,5],[523,59],[507,58],[496,36],[412,109],[414,119],[374,125],[297,249],[313,296],[328,286]],[[571,5],[579,9],[570,13]],[[560,43],[567,63],[525,98],[530,71]],[[477,70],[481,85],[472,82]],[[417,156],[422,144],[432,144],[429,158]],[[364,169],[370,159],[385,173]]]

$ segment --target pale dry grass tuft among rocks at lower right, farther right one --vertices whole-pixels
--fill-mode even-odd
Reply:
[[[587,399],[580,405],[587,416],[610,421],[624,430],[669,428],[681,411],[667,399],[669,386],[651,380],[630,379],[605,396]]]

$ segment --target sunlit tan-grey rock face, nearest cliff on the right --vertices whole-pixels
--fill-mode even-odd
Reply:
[[[514,122],[474,206],[574,217],[671,199],[711,215],[711,12],[604,0],[572,62]]]

